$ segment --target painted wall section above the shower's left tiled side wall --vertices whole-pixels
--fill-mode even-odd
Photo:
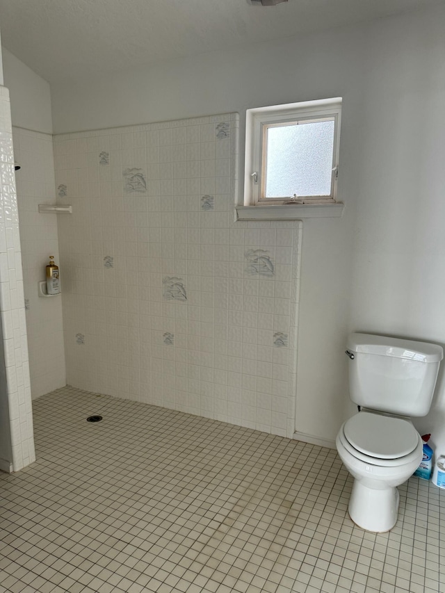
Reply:
[[[3,47],[3,75],[9,89],[13,125],[52,133],[49,83]]]

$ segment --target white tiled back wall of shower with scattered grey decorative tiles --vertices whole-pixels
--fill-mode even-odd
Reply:
[[[235,113],[54,137],[67,382],[291,437],[300,222],[234,222],[237,153]]]

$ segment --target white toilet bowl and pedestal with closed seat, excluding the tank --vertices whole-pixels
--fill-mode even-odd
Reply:
[[[412,476],[422,459],[419,433],[409,420],[365,411],[343,423],[336,444],[355,478],[350,518],[368,531],[389,531],[397,521],[397,486]]]

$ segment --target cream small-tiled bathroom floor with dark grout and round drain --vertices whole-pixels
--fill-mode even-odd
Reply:
[[[38,461],[0,476],[0,592],[445,592],[445,492],[417,478],[373,535],[330,449],[71,388],[34,411]]]

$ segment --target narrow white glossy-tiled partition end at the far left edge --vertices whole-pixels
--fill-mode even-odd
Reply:
[[[0,87],[0,305],[13,469],[35,460],[13,133],[8,89]],[[6,390],[5,390],[6,387]]]

